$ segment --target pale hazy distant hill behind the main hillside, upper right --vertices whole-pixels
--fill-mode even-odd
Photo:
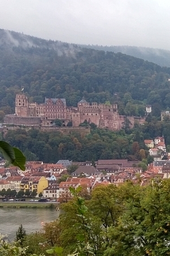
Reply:
[[[170,67],[170,51],[137,46],[102,46],[102,45],[80,45],[81,47],[104,50],[105,52],[124,53],[130,56],[154,62],[160,66]]]

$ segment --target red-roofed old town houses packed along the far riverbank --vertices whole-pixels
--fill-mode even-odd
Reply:
[[[158,142],[159,143],[159,142]],[[141,186],[148,184],[153,178],[170,177],[170,160],[154,161],[146,172],[137,167],[138,161],[120,160],[98,160],[95,167],[90,162],[72,163],[69,160],[60,160],[56,164],[45,164],[30,161],[26,164],[25,172],[19,168],[4,168],[0,165],[0,190],[11,189],[18,191],[33,190],[37,194],[42,193],[44,198],[62,198],[63,195],[71,197],[69,187],[75,189],[84,187],[87,193],[96,186],[123,184],[131,181]],[[67,174],[69,165],[77,165],[75,172],[65,182],[58,182],[64,174]],[[140,180],[139,177],[140,176]]]

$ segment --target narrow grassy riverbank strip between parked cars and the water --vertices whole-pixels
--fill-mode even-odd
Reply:
[[[58,210],[59,205],[54,203],[20,203],[20,202],[3,202],[0,208],[49,208]]]

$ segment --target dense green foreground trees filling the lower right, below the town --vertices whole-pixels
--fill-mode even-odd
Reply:
[[[46,250],[53,255],[55,249],[62,256],[169,255],[169,191],[170,180],[156,177],[145,186],[140,180],[137,185],[131,181],[118,187],[100,185],[87,199],[81,187],[71,188],[72,199],[62,204],[59,219],[28,235],[20,227],[17,246],[20,241],[20,246],[27,246],[28,256]],[[10,246],[0,242],[0,252]]]

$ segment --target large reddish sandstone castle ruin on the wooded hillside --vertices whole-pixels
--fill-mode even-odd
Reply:
[[[99,128],[109,130],[120,130],[128,118],[130,127],[135,122],[143,123],[145,118],[120,116],[117,105],[88,103],[82,98],[77,107],[67,106],[66,99],[47,99],[44,104],[28,103],[25,94],[16,95],[15,114],[6,115],[4,123],[27,126],[53,126],[54,120],[62,121],[63,126],[72,122],[77,127],[85,120],[88,123],[95,123]]]

